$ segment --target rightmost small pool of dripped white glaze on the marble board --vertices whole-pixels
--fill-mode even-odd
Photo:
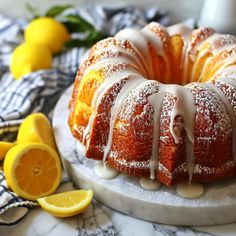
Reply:
[[[200,183],[180,182],[177,184],[176,191],[181,197],[197,198],[203,194],[204,188]]]

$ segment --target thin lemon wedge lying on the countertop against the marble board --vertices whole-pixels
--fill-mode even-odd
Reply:
[[[75,190],[37,199],[39,205],[57,217],[69,217],[83,213],[93,198],[92,190]]]

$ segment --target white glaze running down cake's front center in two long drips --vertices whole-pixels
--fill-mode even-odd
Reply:
[[[158,166],[159,156],[159,127],[160,127],[160,113],[162,100],[165,92],[171,93],[176,101],[174,107],[171,110],[170,132],[175,140],[175,143],[179,143],[180,132],[174,128],[174,119],[176,116],[181,116],[184,121],[184,128],[187,133],[186,140],[186,163],[189,173],[189,180],[191,181],[193,175],[194,164],[194,129],[195,129],[195,100],[191,93],[191,90],[187,87],[180,85],[164,85],[160,84],[159,92],[149,97],[149,102],[154,109],[154,128],[152,138],[152,154],[150,158],[150,178],[155,178],[155,170]]]

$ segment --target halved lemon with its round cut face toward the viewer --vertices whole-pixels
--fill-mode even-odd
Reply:
[[[41,143],[12,147],[5,157],[3,171],[8,186],[19,196],[29,200],[54,193],[61,180],[58,154]]]

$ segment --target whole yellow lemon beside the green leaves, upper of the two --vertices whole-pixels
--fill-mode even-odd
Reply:
[[[51,17],[37,18],[25,29],[26,42],[47,46],[52,53],[60,52],[69,39],[66,27]]]

